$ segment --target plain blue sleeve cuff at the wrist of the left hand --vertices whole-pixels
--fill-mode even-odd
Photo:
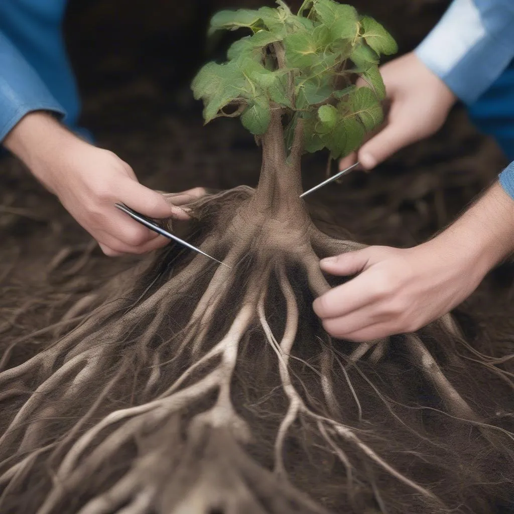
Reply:
[[[0,142],[31,111],[66,113],[33,67],[0,31]]]

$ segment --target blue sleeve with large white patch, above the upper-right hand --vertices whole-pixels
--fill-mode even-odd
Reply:
[[[514,58],[514,1],[453,0],[415,53],[458,98],[473,103]]]

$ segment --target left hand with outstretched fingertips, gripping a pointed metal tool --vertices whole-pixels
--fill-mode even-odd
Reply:
[[[152,218],[189,219],[179,205],[201,196],[200,188],[173,197],[142,186],[128,164],[69,133],[45,113],[27,115],[6,145],[56,194],[106,255],[145,253],[169,243],[116,209],[121,202]]]

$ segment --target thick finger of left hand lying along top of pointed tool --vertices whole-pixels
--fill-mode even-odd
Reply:
[[[128,207],[151,218],[189,219],[186,211],[172,205],[160,193],[142,186],[137,180],[123,180],[119,198]]]

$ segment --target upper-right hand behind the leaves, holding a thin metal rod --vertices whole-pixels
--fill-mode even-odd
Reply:
[[[391,105],[386,122],[357,152],[340,160],[340,170],[357,160],[361,168],[371,170],[403,146],[434,134],[457,100],[414,52],[384,64],[380,73]],[[362,79],[357,81],[357,86],[365,85]]]

